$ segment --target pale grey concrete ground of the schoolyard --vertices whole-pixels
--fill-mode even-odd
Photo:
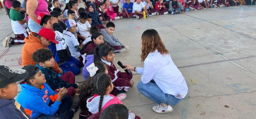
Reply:
[[[136,86],[126,93],[127,98],[123,104],[142,119],[254,119],[255,11],[255,6],[242,5],[139,20],[114,20],[114,35],[130,46],[130,52],[115,53],[114,63],[118,69],[121,68],[117,61],[143,67],[140,62],[141,35],[146,29],[156,29],[188,85],[186,98],[173,106],[172,113],[154,113],[152,106],[156,103],[141,95]],[[0,10],[0,19],[2,43],[4,37],[14,34],[3,9]],[[0,47],[0,65],[20,69],[21,49],[22,45]],[[136,83],[140,77],[140,74],[134,72]],[[76,76],[76,82],[83,81],[82,73]],[[77,113],[74,119],[78,119]]]

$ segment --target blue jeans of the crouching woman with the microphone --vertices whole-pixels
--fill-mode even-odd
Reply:
[[[168,105],[176,105],[182,99],[175,98],[175,96],[171,94],[165,94],[159,87],[156,85],[154,80],[147,84],[143,84],[141,81],[137,84],[137,88],[140,93],[152,101],[158,103],[159,105],[162,103]]]

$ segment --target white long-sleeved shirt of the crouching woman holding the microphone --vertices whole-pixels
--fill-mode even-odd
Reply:
[[[143,84],[153,79],[165,94],[182,94],[182,98],[187,95],[187,83],[169,54],[161,55],[158,50],[149,53],[144,61],[144,68],[137,67],[137,72],[142,74]]]

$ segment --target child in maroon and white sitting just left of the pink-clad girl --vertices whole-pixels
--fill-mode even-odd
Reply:
[[[100,20],[102,20],[104,24],[106,24],[106,23],[111,21],[110,16],[106,12],[104,2],[101,2],[99,4],[99,7],[98,7],[98,9],[96,11],[99,13]]]

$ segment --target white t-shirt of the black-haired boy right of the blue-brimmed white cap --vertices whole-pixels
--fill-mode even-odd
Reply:
[[[77,31],[80,33],[81,36],[84,36],[85,38],[90,36],[90,31],[88,28],[90,28],[91,25],[89,24],[88,21],[85,23],[81,23],[80,21],[77,22]]]

